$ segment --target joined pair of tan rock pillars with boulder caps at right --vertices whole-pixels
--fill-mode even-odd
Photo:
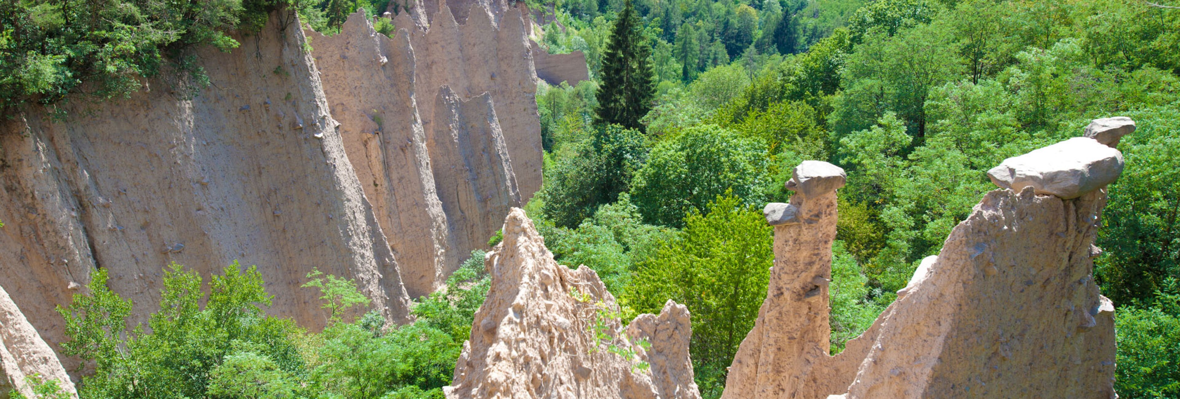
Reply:
[[[1038,178],[1016,184],[1001,169]],[[791,203],[767,205],[775,266],[722,398],[1115,398],[1114,306],[1092,272],[1104,185],[1121,170],[1121,155],[1093,138],[1005,159],[989,172],[1002,189],[830,357],[833,190],[844,181],[833,166],[800,165]]]

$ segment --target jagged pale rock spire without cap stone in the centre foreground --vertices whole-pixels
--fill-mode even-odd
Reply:
[[[557,264],[518,208],[485,266],[492,286],[453,385],[444,388],[447,398],[700,398],[683,306],[669,302],[658,316],[641,315],[624,331],[598,275]],[[599,340],[596,332],[609,338]],[[628,336],[649,340],[650,351]],[[651,367],[637,367],[641,361]]]

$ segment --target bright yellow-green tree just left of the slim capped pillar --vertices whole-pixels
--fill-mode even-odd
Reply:
[[[684,218],[683,234],[640,266],[623,297],[644,313],[658,313],[669,299],[688,307],[697,384],[702,394],[715,397],[766,296],[774,234],[758,207],[730,192],[715,197],[707,211]]]

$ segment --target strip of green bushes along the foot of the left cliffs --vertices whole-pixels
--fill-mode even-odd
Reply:
[[[371,312],[355,322],[334,319],[320,334],[267,316],[261,307],[270,296],[261,275],[255,267],[241,272],[236,262],[211,276],[208,296],[195,272],[170,266],[150,329],[127,331],[130,302],[106,288],[99,269],[90,294],[59,308],[71,338],[63,348],[93,361],[81,398],[441,399],[487,293],[483,257],[472,253],[446,290],[424,297],[412,325],[382,329],[386,320]],[[349,280],[319,273],[309,279],[323,290],[326,308],[365,302]],[[54,398],[50,387],[35,390]]]

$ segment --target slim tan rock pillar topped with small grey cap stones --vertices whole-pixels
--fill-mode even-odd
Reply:
[[[847,387],[867,349],[858,338],[828,355],[828,282],[835,240],[835,190],[844,170],[806,161],[794,169],[791,203],[763,210],[774,225],[774,267],[758,319],[734,357],[726,399],[822,398]],[[876,328],[873,328],[876,329]]]

